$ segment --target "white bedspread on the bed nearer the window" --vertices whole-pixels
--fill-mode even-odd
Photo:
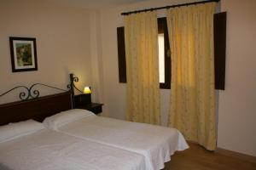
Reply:
[[[126,122],[95,115],[68,123],[57,130],[142,154],[146,158],[147,170],[164,168],[165,162],[171,160],[176,150],[189,148],[183,135],[175,128]]]

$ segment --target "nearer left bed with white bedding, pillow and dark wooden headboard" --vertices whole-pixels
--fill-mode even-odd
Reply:
[[[46,116],[70,109],[72,98],[69,92],[0,105],[0,169],[146,170],[142,155],[57,133],[39,123]],[[28,119],[39,122],[33,121],[32,124],[37,124],[33,128],[16,126]]]

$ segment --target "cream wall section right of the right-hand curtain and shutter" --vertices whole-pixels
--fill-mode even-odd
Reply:
[[[221,7],[228,20],[218,147],[256,156],[256,1],[222,0]]]

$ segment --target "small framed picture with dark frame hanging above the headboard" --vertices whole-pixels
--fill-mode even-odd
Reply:
[[[9,37],[12,71],[38,71],[36,38]]]

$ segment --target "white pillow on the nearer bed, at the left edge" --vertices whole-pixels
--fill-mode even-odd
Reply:
[[[35,133],[44,129],[41,122],[36,122],[32,119],[24,122],[14,122],[8,125],[0,126],[0,143],[11,139],[16,139],[27,134]]]

